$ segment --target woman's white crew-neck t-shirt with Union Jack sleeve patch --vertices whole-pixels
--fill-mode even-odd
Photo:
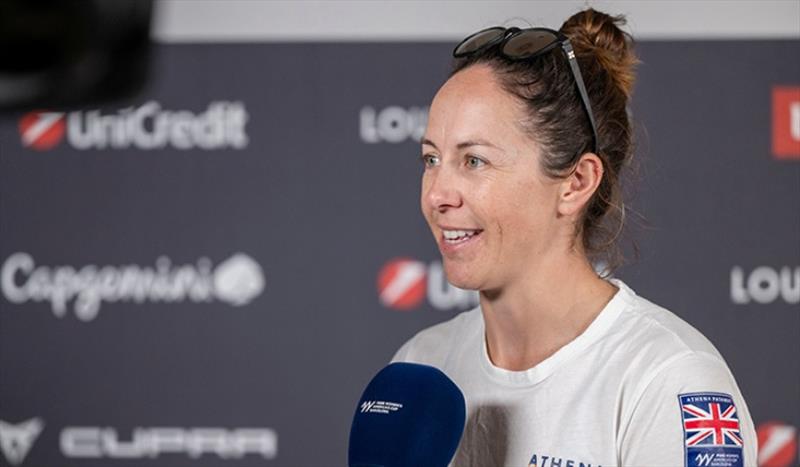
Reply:
[[[428,328],[394,361],[441,369],[464,393],[454,466],[756,465],[728,366],[688,323],[619,280],[580,336],[526,371],[489,360],[480,307]]]

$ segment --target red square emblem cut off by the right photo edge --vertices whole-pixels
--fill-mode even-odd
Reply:
[[[800,159],[800,86],[772,88],[772,154]]]

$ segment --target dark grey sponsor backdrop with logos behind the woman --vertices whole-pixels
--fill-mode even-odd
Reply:
[[[130,100],[2,114],[0,465],[344,464],[372,375],[477,302],[418,212],[451,45],[162,44]],[[794,465],[800,42],[638,49],[618,275]]]

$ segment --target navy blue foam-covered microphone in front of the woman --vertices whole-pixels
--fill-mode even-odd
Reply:
[[[466,420],[461,390],[440,370],[392,363],[361,395],[350,428],[350,467],[446,467]]]

